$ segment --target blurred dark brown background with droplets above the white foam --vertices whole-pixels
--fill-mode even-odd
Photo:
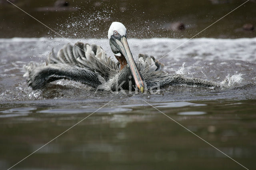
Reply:
[[[107,38],[113,21],[129,38],[190,38],[246,0],[0,0],[0,38]],[[256,36],[256,0],[202,32],[208,38]]]

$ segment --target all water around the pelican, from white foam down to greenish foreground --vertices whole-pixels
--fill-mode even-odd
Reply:
[[[135,59],[138,53],[159,59],[187,40],[128,43]],[[68,41],[94,42],[112,55],[106,39]],[[255,167],[256,38],[193,39],[160,60],[165,71],[216,81],[222,89],[178,85],[158,94],[95,93],[68,80],[36,91],[27,87],[23,65],[44,62],[52,48],[68,41],[0,39],[1,169],[91,113],[14,169],[243,169],[170,118],[247,168]]]

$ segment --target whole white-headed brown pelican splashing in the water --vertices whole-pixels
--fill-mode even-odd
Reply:
[[[126,39],[126,28],[120,22],[111,24],[108,39],[117,63],[110,59],[99,45],[82,42],[73,46],[67,44],[57,55],[52,51],[45,64],[30,62],[24,66],[28,85],[32,89],[40,89],[46,83],[69,79],[96,90],[134,90],[138,87],[142,93],[144,89],[174,84],[218,86],[214,82],[166,73],[162,71],[164,65],[152,56],[140,54],[138,62],[135,63]]]

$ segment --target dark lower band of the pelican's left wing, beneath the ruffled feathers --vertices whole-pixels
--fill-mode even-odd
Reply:
[[[71,66],[63,63],[44,65],[30,62],[28,65],[24,65],[24,69],[26,69],[24,77],[28,77],[28,86],[34,90],[58,79],[79,81],[92,87],[98,87],[105,82],[99,73],[76,65]]]

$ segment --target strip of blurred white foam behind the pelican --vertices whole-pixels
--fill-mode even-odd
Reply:
[[[63,39],[63,38],[10,38],[0,39],[0,51],[4,58],[5,53],[9,52],[12,43],[19,43],[13,53],[29,54],[31,46],[36,46],[33,51],[38,51],[47,55],[52,48],[59,49],[66,43],[76,43],[78,41],[96,43],[102,46],[108,55],[112,56],[109,47],[108,39]],[[173,39],[173,38],[151,38],[151,39],[134,39],[128,38],[130,49],[134,56],[139,53],[148,53],[156,58],[160,58],[168,53],[164,58],[182,59],[194,57],[195,59],[204,59],[212,61],[220,60],[242,60],[256,62],[256,38],[239,38],[239,39],[214,39],[214,38],[196,38],[188,42],[188,39]],[[26,43],[23,43],[26,42]],[[186,43],[184,43],[186,42]],[[184,43],[183,45],[181,45]],[[181,45],[180,47],[178,47]],[[176,47],[178,47],[176,49]],[[175,49],[175,50],[174,50]],[[172,51],[174,50],[174,51]],[[171,53],[169,53],[172,51]],[[38,54],[38,53],[37,53]],[[35,54],[33,54],[35,55]],[[8,55],[6,55],[8,57]]]

